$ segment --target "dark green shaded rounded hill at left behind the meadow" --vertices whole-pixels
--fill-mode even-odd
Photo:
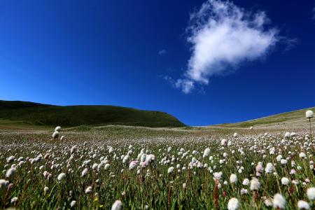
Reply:
[[[186,126],[160,111],[120,106],[53,106],[33,102],[1,101],[0,125],[75,127],[79,125]]]

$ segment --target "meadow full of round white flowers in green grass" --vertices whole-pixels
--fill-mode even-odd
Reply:
[[[309,128],[56,131],[0,132],[0,209],[315,209]]]

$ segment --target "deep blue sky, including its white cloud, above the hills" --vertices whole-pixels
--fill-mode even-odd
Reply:
[[[166,111],[188,125],[315,106],[315,1],[204,2],[1,1],[0,99]]]

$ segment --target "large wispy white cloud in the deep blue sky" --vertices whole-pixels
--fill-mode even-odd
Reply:
[[[188,42],[193,46],[188,69],[175,85],[189,93],[196,84],[263,57],[275,45],[278,31],[266,29],[264,12],[253,13],[230,1],[209,0],[190,15]]]

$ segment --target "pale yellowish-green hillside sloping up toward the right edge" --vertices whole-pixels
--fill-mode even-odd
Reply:
[[[269,127],[269,128],[300,128],[308,127],[308,120],[305,118],[305,111],[312,110],[315,112],[315,107],[300,109],[297,111],[290,111],[286,113],[279,113],[264,118],[258,118],[255,120],[248,120],[240,123],[224,123],[220,125],[214,125],[214,127],[230,127],[230,128],[246,128],[246,127]],[[314,119],[312,120],[314,123]]]

